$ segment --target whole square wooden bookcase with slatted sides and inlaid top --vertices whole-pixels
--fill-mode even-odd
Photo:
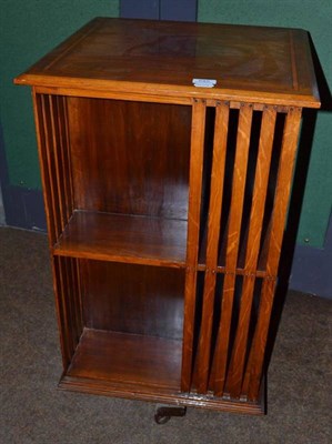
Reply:
[[[33,93],[60,386],[262,413],[301,110],[320,107],[306,32],[98,18],[16,83]]]

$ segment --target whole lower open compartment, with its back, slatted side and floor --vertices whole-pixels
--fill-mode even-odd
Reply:
[[[54,264],[64,384],[178,393],[184,270],[59,255]]]

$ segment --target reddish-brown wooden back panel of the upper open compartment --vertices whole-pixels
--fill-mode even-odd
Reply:
[[[190,107],[68,98],[68,115],[77,208],[187,220]]]

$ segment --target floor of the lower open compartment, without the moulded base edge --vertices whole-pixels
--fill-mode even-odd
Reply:
[[[182,342],[84,329],[68,376],[180,390]]]

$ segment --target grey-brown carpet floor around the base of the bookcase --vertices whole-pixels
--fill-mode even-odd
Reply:
[[[0,229],[1,444],[331,443],[331,312],[290,292],[269,371],[266,416],[154,405],[57,389],[61,374],[47,238]],[[330,325],[329,325],[330,321]]]

